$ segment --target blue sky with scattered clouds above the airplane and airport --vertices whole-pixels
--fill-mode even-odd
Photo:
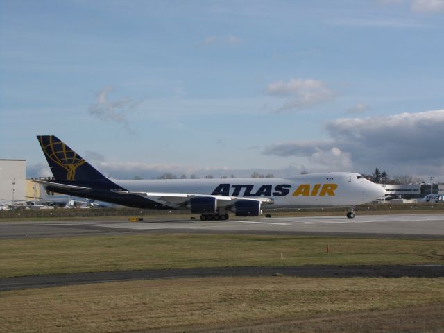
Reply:
[[[0,1],[0,158],[444,182],[444,0]]]

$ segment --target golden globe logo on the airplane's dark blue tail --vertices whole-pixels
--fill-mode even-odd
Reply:
[[[67,180],[75,180],[76,169],[86,161],[63,142],[53,142],[52,136],[46,143],[41,138],[40,144],[46,157],[67,171]]]

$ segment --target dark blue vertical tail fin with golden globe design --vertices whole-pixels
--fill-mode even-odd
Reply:
[[[56,180],[108,179],[55,135],[37,135]]]

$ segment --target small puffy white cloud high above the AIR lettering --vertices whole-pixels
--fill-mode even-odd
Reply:
[[[334,99],[334,93],[325,83],[312,78],[292,78],[287,83],[273,82],[267,85],[266,92],[288,100],[276,112],[310,108]]]

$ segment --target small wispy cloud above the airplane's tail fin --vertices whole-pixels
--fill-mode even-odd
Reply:
[[[128,111],[133,110],[138,102],[131,99],[121,99],[120,101],[109,101],[108,94],[112,87],[103,88],[96,97],[96,103],[89,105],[88,112],[92,117],[105,121],[120,123],[125,130],[132,133],[130,124],[126,117]]]

